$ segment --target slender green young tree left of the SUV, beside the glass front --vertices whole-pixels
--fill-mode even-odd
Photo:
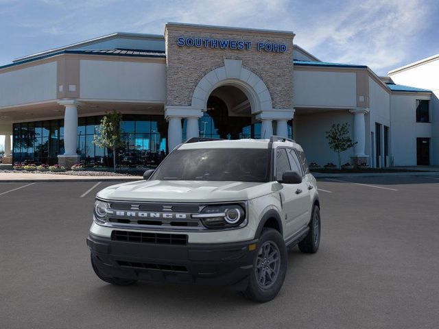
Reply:
[[[112,149],[112,164],[116,171],[116,150],[123,146],[121,138],[122,114],[113,110],[104,115],[99,127],[99,135],[94,136],[93,143],[98,147]]]

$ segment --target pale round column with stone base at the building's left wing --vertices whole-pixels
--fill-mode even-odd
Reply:
[[[80,156],[76,153],[78,149],[78,106],[81,105],[75,99],[64,99],[58,101],[64,109],[64,154],[58,156],[58,164],[70,169],[73,164],[78,163]]]

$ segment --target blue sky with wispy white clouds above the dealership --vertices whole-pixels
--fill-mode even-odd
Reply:
[[[436,0],[0,0],[0,65],[112,32],[163,34],[165,23],[181,22],[293,31],[324,62],[385,75],[439,53],[438,17]]]

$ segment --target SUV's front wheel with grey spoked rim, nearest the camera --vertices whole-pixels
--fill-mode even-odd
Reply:
[[[262,231],[248,287],[241,295],[255,302],[268,302],[281,290],[287,273],[287,247],[272,228]]]

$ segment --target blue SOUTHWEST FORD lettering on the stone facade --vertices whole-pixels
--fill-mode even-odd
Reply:
[[[270,53],[283,53],[287,50],[287,46],[283,45],[282,43],[257,42],[256,45],[253,46],[251,41],[191,37],[185,38],[184,36],[177,38],[177,45],[180,47],[236,50],[250,50],[252,47],[255,47],[257,51],[267,51]]]

